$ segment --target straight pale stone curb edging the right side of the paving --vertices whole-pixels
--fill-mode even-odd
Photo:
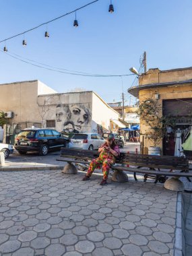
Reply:
[[[185,256],[185,197],[177,194],[174,256]]]

